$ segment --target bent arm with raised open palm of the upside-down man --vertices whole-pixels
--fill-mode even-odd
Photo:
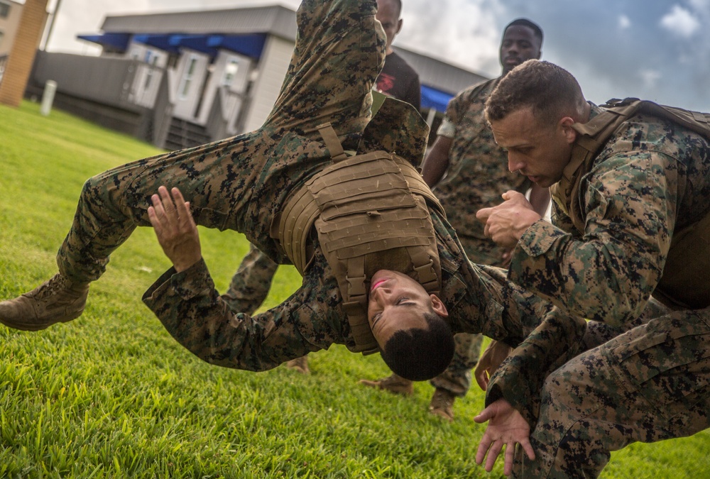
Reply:
[[[143,302],[182,346],[207,363],[244,370],[275,368],[310,351],[343,342],[337,316],[339,295],[332,275],[315,260],[305,284],[263,314],[232,311],[219,295],[200,253],[197,226],[177,188],[165,187],[148,209],[155,235],[174,268],[143,295]],[[322,258],[320,250],[317,251]]]

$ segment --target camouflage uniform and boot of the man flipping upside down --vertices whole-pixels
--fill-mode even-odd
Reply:
[[[355,149],[362,140],[365,152],[385,142],[398,153],[423,153],[427,132],[420,128],[421,119],[400,114],[410,106],[393,100],[385,116],[383,106],[370,121],[371,87],[382,65],[384,45],[374,11],[373,0],[302,4],[297,43],[280,97],[257,131],[139,160],[87,180],[58,253],[60,274],[23,297],[0,303],[0,322],[42,329],[73,319],[74,312],[35,318],[28,312],[33,308],[23,305],[52,309],[56,304],[48,304],[47,297],[56,297],[58,291],[62,298],[75,288],[77,294],[85,294],[81,288],[85,285],[87,290],[88,282],[102,275],[109,254],[137,226],[150,224],[148,205],[159,185],[185,192],[197,224],[241,231],[283,263],[288,258],[270,235],[271,220],[290,193],[331,164],[315,126],[332,123],[345,148]],[[378,141],[364,133],[366,126]],[[435,209],[430,211],[442,267],[440,296],[449,309],[452,330],[482,332],[510,343],[522,340],[550,305],[508,282],[503,270],[469,263],[454,230]],[[338,282],[317,237],[311,241],[314,256],[302,286],[263,314],[229,309],[203,260],[180,272],[171,268],[143,300],[177,341],[215,365],[267,370],[332,343],[353,349]],[[15,314],[18,307],[26,316]],[[77,308],[78,315],[83,303]]]

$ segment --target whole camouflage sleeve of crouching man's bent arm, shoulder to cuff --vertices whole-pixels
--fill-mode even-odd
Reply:
[[[597,163],[584,192],[583,236],[545,221],[525,231],[508,277],[570,314],[624,324],[640,315],[665,265],[678,171],[652,150]]]

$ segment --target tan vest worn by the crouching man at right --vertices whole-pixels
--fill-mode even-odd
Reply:
[[[579,135],[572,160],[562,180],[550,187],[552,198],[574,226],[584,232],[581,211],[581,179],[591,170],[596,153],[630,116],[647,113],[670,119],[710,140],[710,114],[662,106],[636,98],[611,99],[605,110],[587,123],[574,123]],[[653,296],[670,307],[700,309],[710,306],[710,213],[703,219],[674,231],[663,275]]]

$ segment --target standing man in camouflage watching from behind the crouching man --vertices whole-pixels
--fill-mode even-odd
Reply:
[[[476,220],[476,211],[493,207],[501,194],[513,189],[525,193],[534,184],[518,172],[508,171],[506,153],[498,148],[484,114],[486,99],[502,77],[513,67],[530,58],[540,58],[542,30],[525,18],[506,26],[501,40],[500,61],[503,75],[464,89],[447,106],[437,141],[423,165],[422,174],[447,212],[456,229],[466,256],[479,265],[505,267],[509,248],[486,238],[484,227]],[[442,178],[446,173],[445,177]],[[540,211],[547,209],[545,189],[533,193]],[[457,334],[456,351],[451,365],[430,382],[436,388],[430,409],[446,419],[453,419],[453,403],[471,387],[471,369],[479,360],[483,336]],[[401,387],[401,380],[394,382]]]

